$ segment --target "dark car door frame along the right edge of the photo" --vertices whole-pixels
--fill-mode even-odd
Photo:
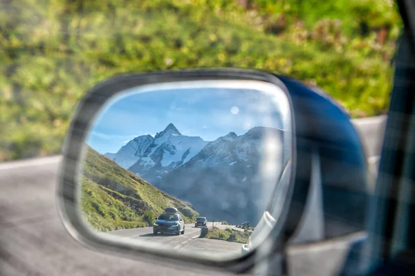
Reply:
[[[411,187],[415,181],[415,2],[397,3],[404,30],[396,55],[394,87],[368,218],[365,270],[375,275],[409,270],[415,273],[415,193]]]

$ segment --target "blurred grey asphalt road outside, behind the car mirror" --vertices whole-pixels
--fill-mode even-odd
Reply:
[[[369,160],[374,164],[380,155],[384,121],[385,117],[353,121],[365,138]],[[127,259],[75,242],[57,214],[60,159],[47,157],[0,165],[0,275],[225,275],[169,266],[156,259]]]

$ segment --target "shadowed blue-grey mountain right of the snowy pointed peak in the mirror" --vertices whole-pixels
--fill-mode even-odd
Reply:
[[[255,225],[265,210],[264,191],[275,185],[279,175],[277,168],[267,177],[261,170],[264,140],[269,135],[278,137],[279,143],[282,140],[282,131],[273,128],[252,128],[240,136],[230,132],[169,172],[157,186],[189,201],[211,221],[250,221]],[[282,163],[279,150],[275,159],[278,165]]]

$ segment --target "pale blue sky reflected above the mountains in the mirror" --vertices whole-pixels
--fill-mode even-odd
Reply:
[[[255,126],[283,128],[278,107],[258,90],[182,88],[131,93],[102,110],[86,140],[100,153],[117,152],[140,135],[156,135],[172,123],[182,135],[213,141]]]

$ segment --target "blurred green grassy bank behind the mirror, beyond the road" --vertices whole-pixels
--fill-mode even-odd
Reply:
[[[238,67],[383,114],[402,23],[391,0],[0,3],[0,161],[59,152],[77,101],[121,72]]]

